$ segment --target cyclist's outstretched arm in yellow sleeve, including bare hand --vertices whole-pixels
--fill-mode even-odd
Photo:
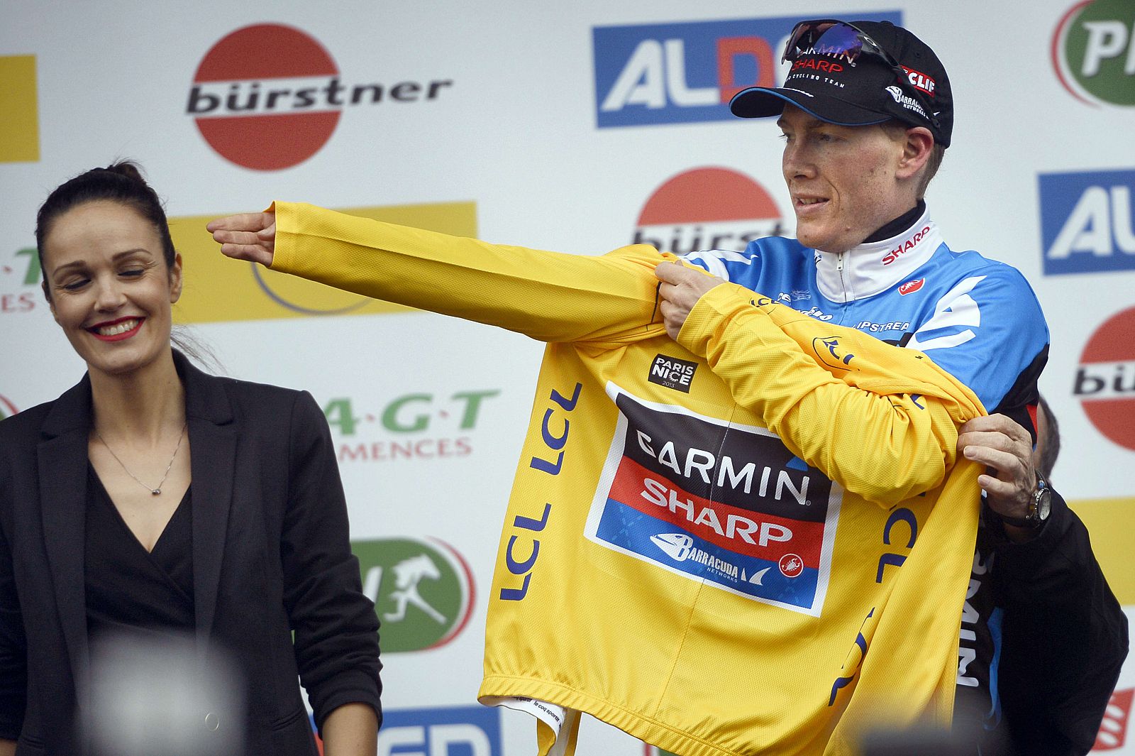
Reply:
[[[545,342],[613,344],[662,333],[651,271],[664,258],[646,245],[563,254],[308,204],[274,209],[215,220],[209,229],[229,257]]]

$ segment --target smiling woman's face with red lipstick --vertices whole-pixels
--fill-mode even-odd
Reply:
[[[94,201],[59,216],[43,267],[51,313],[92,371],[125,373],[168,353],[182,260],[166,264],[158,232],[134,209]]]

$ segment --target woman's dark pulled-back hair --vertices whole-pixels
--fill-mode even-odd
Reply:
[[[140,166],[131,160],[119,160],[106,168],[92,168],[85,174],[64,182],[54,188],[35,215],[35,250],[40,255],[40,270],[43,272],[43,294],[51,301],[51,288],[48,286],[48,269],[43,266],[43,243],[51,227],[68,210],[87,202],[117,202],[132,208],[143,219],[148,220],[161,240],[161,253],[166,267],[173,269],[174,240],[169,235],[169,222],[166,210],[161,207],[158,193],[142,178]]]

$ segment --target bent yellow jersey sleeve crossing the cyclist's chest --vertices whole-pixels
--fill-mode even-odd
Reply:
[[[707,292],[678,341],[802,460],[884,506],[940,486],[958,426],[984,414],[922,352],[821,324],[737,284]]]

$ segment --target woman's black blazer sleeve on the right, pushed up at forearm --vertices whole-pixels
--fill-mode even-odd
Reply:
[[[351,553],[347,506],[327,419],[303,392],[292,414],[284,603],[295,631],[300,680],[320,731],[327,715],[379,703],[378,615]]]

